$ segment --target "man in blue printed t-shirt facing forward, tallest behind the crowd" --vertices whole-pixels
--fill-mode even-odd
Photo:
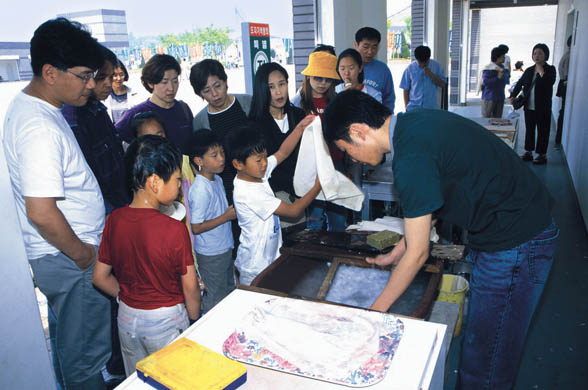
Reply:
[[[394,81],[388,65],[376,59],[382,37],[372,27],[362,27],[355,33],[355,50],[361,54],[363,61],[363,82],[382,93],[382,104],[393,113],[396,95]]]

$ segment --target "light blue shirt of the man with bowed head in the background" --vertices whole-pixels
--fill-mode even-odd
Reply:
[[[440,63],[434,59],[429,59],[427,65],[435,76],[445,80],[445,72]],[[408,106],[406,111],[417,108],[439,108],[437,101],[437,85],[425,74],[425,71],[419,66],[417,61],[413,61],[404,70],[400,88],[409,91]]]

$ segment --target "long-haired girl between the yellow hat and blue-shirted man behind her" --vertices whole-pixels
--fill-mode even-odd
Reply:
[[[367,93],[378,102],[382,102],[382,93],[370,85],[363,83],[363,61],[361,54],[355,49],[346,49],[339,54],[337,60],[337,73],[343,80],[342,84],[335,87],[339,93],[348,89],[357,89]]]

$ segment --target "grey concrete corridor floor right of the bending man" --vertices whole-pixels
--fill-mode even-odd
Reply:
[[[480,116],[479,100],[452,110],[465,116]],[[524,128],[523,118],[518,154],[524,145]],[[561,232],[551,275],[527,336],[515,385],[517,390],[588,388],[588,234],[565,153],[554,147],[554,127],[550,138],[547,165],[529,166],[556,200],[553,216]],[[453,341],[445,390],[453,390],[457,379],[462,337]]]

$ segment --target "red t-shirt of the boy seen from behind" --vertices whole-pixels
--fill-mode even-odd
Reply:
[[[112,266],[120,300],[143,310],[184,302],[181,275],[194,265],[186,225],[159,210],[129,206],[106,220],[98,260]]]

